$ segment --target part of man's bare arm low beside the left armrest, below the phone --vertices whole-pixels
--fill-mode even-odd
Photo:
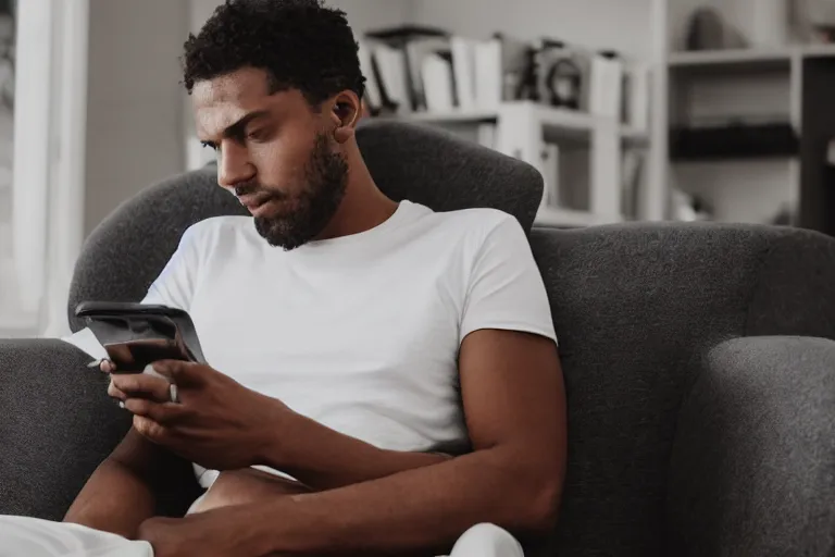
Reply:
[[[153,511],[150,486],[124,465],[108,459],[90,476],[64,522],[134,539],[139,524]]]

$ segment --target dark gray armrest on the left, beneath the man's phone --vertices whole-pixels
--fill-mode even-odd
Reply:
[[[61,520],[130,428],[89,361],[62,341],[0,341],[0,515]],[[165,480],[160,513],[184,512],[198,493],[191,467]]]

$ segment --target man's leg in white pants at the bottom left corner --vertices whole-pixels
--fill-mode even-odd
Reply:
[[[153,549],[78,524],[0,516],[0,557],[153,557]]]

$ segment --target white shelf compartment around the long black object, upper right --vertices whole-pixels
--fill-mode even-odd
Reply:
[[[835,61],[835,46],[670,52],[669,125],[715,114],[787,122],[802,136],[806,69],[822,59]],[[669,172],[672,185],[713,205],[718,221],[770,222],[781,209],[796,211],[801,203],[799,154],[671,160]]]

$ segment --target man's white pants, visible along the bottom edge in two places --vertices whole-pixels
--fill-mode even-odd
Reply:
[[[147,542],[78,524],[0,516],[0,557],[153,557]],[[524,557],[507,531],[477,524],[459,537],[450,557]]]

